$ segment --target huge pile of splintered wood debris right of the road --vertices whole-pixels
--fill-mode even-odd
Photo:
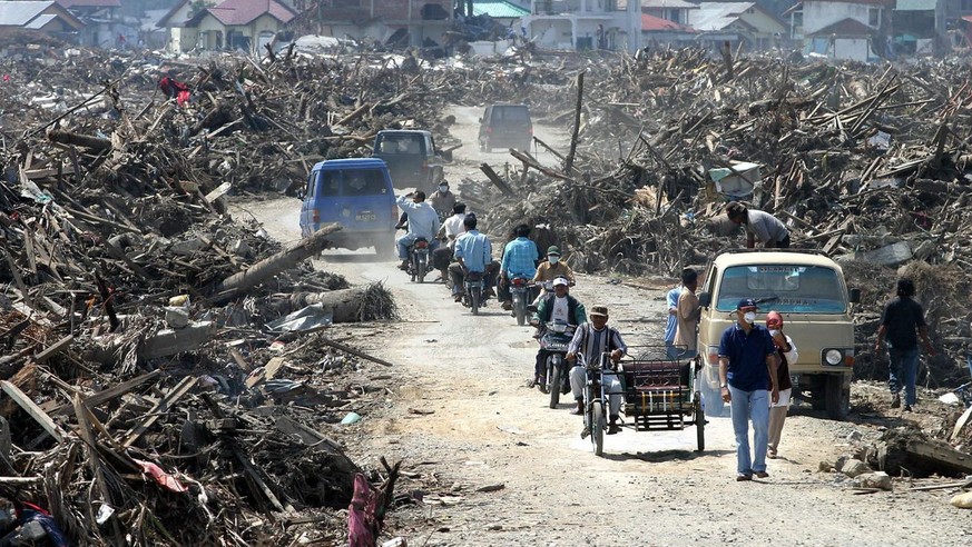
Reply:
[[[549,226],[585,271],[675,276],[742,245],[735,225],[725,229],[726,201],[773,212],[793,247],[836,258],[851,286],[864,289],[862,376],[886,371],[870,347],[880,305],[893,296],[893,268],[910,263],[940,348],[931,386],[955,385],[968,378],[955,361],[972,340],[966,64],[797,66],[714,61],[695,50],[588,62],[579,67],[587,86],[579,77],[569,87],[532,87],[548,118],[580,119],[571,150],[553,150],[560,168],[514,150],[521,169],[503,178],[484,167],[492,188],[468,187],[498,203],[487,230]]]

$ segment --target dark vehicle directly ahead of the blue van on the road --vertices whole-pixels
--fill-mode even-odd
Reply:
[[[429,131],[379,131],[374,138],[372,157],[381,158],[387,163],[395,188],[414,188],[431,195],[444,177],[442,158]]]

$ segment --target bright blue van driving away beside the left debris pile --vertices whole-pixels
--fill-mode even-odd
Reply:
[[[311,170],[303,200],[304,237],[322,225],[338,222],[341,231],[328,237],[335,247],[351,250],[374,247],[379,256],[391,255],[399,208],[384,161],[374,158],[322,161]]]

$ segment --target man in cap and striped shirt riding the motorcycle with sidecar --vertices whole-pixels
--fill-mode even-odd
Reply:
[[[621,339],[621,334],[613,327],[608,327],[608,308],[606,306],[595,306],[590,309],[590,322],[580,326],[573,332],[573,339],[567,347],[567,360],[576,361],[577,354],[583,356],[583,362],[597,362],[598,359],[606,352],[610,352],[611,360],[618,362],[621,357],[628,351],[628,346]],[[573,415],[583,415],[583,396],[585,386],[587,386],[587,369],[577,361],[570,369],[570,390],[573,392],[573,399],[577,401],[577,408],[570,410]],[[615,435],[619,430],[618,420],[621,411],[621,381],[618,379],[618,372],[606,368],[603,370],[603,388],[608,394],[608,435]],[[587,427],[580,434],[581,438],[587,437],[590,429]]]

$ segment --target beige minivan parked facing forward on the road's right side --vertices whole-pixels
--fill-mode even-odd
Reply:
[[[833,419],[851,410],[854,370],[854,322],[851,305],[860,290],[848,290],[841,267],[822,253],[776,249],[725,251],[708,265],[699,292],[699,358],[705,365],[700,390],[707,416],[723,412],[719,396],[719,340],[736,320],[739,300],[783,316],[784,331],[793,338],[799,359],[789,365],[794,392]]]

